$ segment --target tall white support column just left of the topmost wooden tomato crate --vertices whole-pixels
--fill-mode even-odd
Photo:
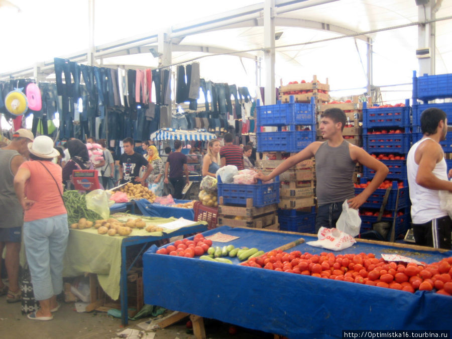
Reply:
[[[276,103],[275,92],[275,0],[264,3],[264,60],[266,105]]]

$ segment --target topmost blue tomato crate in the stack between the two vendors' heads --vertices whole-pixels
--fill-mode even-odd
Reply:
[[[367,108],[367,102],[363,102],[363,128],[409,127],[410,123],[409,99],[404,107]]]

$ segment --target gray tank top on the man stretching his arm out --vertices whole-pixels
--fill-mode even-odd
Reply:
[[[343,203],[355,196],[353,172],[355,162],[350,157],[349,142],[337,147],[331,147],[325,141],[315,153],[315,175],[317,184],[315,192],[317,204],[331,202]]]

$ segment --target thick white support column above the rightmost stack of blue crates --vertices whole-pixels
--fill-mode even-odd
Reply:
[[[418,5],[418,21],[434,20],[435,12],[433,7],[435,5],[434,0],[427,0],[427,4]],[[433,75],[435,74],[435,23],[429,23],[425,25],[418,25],[417,27],[417,44],[418,50],[416,56],[419,60],[419,73],[418,76],[423,74]]]

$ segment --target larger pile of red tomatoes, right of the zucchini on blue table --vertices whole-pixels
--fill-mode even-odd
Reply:
[[[372,253],[320,255],[274,250],[240,265],[313,277],[342,280],[414,293],[416,290],[452,295],[452,257],[425,266],[386,262]]]

